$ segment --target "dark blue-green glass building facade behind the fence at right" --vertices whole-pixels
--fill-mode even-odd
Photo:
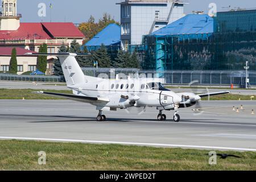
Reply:
[[[256,71],[256,10],[218,13],[214,30],[145,36],[142,68],[236,71],[249,61],[250,71]]]

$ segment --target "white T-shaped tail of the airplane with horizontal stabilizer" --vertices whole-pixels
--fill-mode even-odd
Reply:
[[[61,68],[64,73],[67,86],[77,85],[84,82],[92,82],[96,78],[85,76],[76,61],[75,56],[83,56],[88,54],[76,54],[76,53],[27,53],[27,55],[43,55],[43,56],[56,56],[59,57]]]

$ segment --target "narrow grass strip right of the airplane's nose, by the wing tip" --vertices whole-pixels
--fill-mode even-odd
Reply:
[[[218,101],[218,100],[226,100],[226,101],[238,101],[239,98],[241,101],[249,101],[251,100],[251,96],[242,96],[242,95],[236,95],[236,94],[222,94],[218,96],[210,96],[211,101]],[[256,96],[254,96],[253,100],[256,99]],[[203,101],[208,100],[208,97],[202,98]]]

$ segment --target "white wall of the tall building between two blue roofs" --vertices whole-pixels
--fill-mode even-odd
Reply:
[[[130,23],[130,34],[121,34],[121,43],[122,48],[125,49],[124,42],[129,42],[129,44],[141,44],[143,35],[150,34],[152,24],[154,24],[155,13],[159,11],[159,19],[161,21],[156,21],[155,26],[152,29],[152,32],[163,28],[169,23],[174,22],[177,19],[180,19],[184,16],[184,6],[183,4],[175,3],[174,8],[172,9],[173,2],[167,3],[127,3],[121,5],[121,26],[123,24]],[[128,17],[123,17],[123,6],[130,6],[131,15]],[[172,11],[171,11],[172,10]],[[171,16],[168,20],[168,16]],[[123,28],[124,26],[122,26]]]

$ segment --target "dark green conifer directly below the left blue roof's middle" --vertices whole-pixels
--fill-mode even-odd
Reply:
[[[108,54],[108,50],[104,44],[101,47],[92,53],[92,60],[98,62],[98,67],[101,68],[109,68],[110,67],[110,56]]]

